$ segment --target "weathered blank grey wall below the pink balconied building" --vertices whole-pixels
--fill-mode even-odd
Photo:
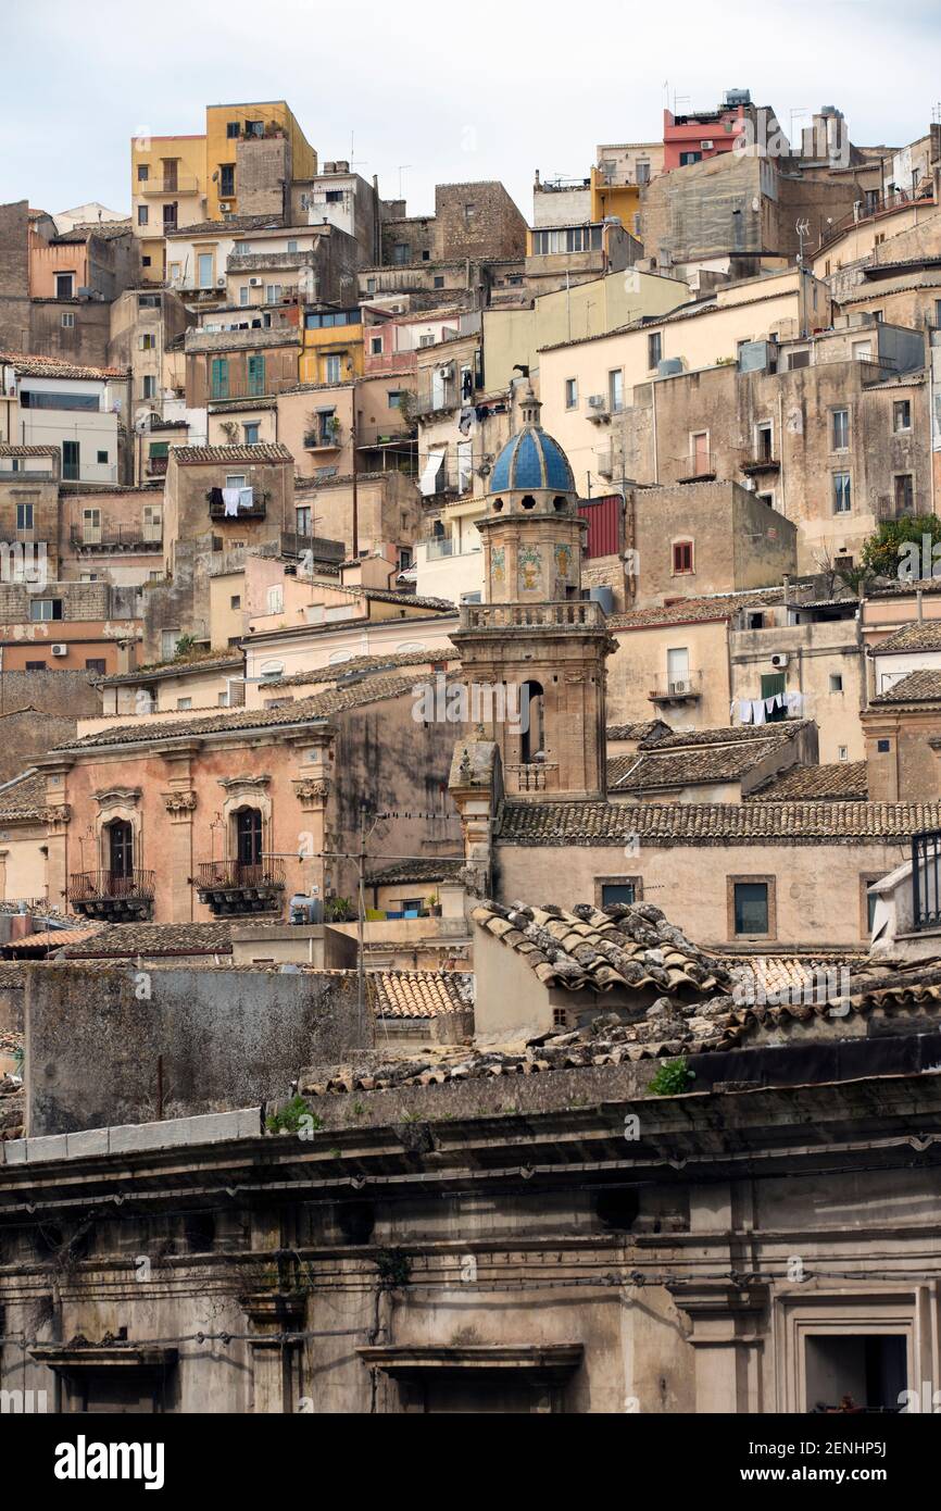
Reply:
[[[69,963],[26,978],[32,1136],[290,1097],[304,1065],[359,1047],[353,972]]]

